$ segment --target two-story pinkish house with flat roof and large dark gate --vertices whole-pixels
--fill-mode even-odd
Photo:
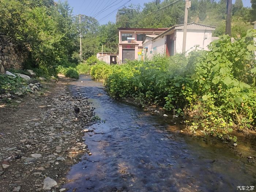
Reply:
[[[142,42],[146,35],[159,35],[168,28],[142,29],[142,28],[118,28],[119,30],[119,64],[128,60],[142,60]]]

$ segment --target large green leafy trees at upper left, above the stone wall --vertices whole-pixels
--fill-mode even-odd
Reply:
[[[0,17],[0,34],[29,53],[27,66],[46,75],[56,75],[54,65],[70,59],[77,48],[76,26],[67,2],[2,0]]]

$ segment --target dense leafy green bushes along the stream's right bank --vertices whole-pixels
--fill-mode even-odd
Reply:
[[[256,50],[248,30],[231,43],[228,35],[187,57],[155,56],[153,60],[128,61],[124,65],[97,64],[94,79],[105,81],[114,98],[132,97],[140,105],[157,103],[174,115],[192,114],[189,129],[202,128],[207,135],[236,140],[230,133],[256,125]]]

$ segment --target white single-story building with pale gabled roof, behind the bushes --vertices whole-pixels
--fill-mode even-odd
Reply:
[[[144,56],[151,59],[154,54],[166,54],[167,56],[182,53],[184,24],[176,25],[159,35],[146,35],[142,42]],[[212,31],[216,27],[199,23],[188,23],[186,52],[199,48],[208,50],[207,45],[218,37],[212,37]]]

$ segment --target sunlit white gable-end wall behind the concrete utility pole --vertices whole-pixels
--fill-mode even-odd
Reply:
[[[204,39],[207,37],[207,39]],[[186,51],[191,52],[195,45],[208,50],[207,45],[212,41],[212,31],[210,30],[187,30]],[[176,53],[182,53],[183,30],[176,30]]]

